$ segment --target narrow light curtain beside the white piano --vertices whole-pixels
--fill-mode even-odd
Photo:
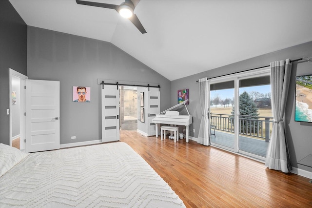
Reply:
[[[209,83],[206,77],[199,79],[199,103],[202,117],[199,126],[197,143],[205,146],[210,145],[210,138],[208,134],[208,87]]]

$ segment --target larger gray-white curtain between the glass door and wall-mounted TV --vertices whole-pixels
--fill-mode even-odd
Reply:
[[[285,136],[285,107],[290,84],[292,63],[289,59],[271,62],[271,91],[273,130],[265,165],[270,169],[291,171],[287,140]]]

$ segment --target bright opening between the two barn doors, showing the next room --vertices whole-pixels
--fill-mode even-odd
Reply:
[[[137,131],[137,87],[119,86],[120,130]]]

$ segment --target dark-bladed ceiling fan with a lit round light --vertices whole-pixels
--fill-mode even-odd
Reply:
[[[120,5],[116,4],[109,4],[109,3],[99,3],[99,2],[92,2],[92,1],[85,1],[85,0],[76,0],[78,4],[82,5],[88,5],[88,6],[97,6],[107,9],[115,9],[121,17],[128,18],[136,27],[137,29],[142,33],[146,33],[146,30],[144,29],[141,22],[138,20],[137,15],[134,14],[134,9],[136,8],[138,2],[140,0],[125,0],[125,2],[122,2]]]

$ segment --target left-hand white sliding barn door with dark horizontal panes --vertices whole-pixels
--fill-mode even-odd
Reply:
[[[117,85],[101,85],[102,142],[119,141],[119,90]]]

